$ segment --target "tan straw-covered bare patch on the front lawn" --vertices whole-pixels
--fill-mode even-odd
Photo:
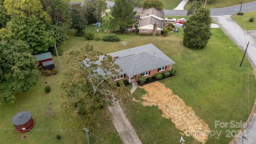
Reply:
[[[192,136],[197,141],[205,143],[208,140],[210,132],[209,126],[198,116],[191,107],[175,95],[172,90],[166,88],[164,84],[154,82],[140,86],[145,89],[147,94],[142,96],[145,101],[141,102],[143,106],[158,106],[163,111],[163,117],[171,119],[175,127],[187,137]]]

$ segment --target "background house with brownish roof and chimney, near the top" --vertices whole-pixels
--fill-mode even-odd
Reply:
[[[161,34],[164,25],[164,11],[155,8],[142,9],[139,20],[139,33]]]

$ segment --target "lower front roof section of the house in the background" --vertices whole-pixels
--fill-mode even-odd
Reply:
[[[148,17],[148,18],[140,19],[138,28],[143,27],[143,26],[147,26],[147,25],[153,25],[154,26],[154,23],[157,23],[158,28],[163,29],[163,26],[164,26],[163,21],[158,20],[154,17]]]

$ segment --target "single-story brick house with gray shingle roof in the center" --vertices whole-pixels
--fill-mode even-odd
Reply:
[[[123,72],[113,78],[114,81],[127,80],[136,82],[140,76],[153,77],[157,73],[164,73],[175,63],[153,44],[142,45],[123,51],[109,53],[115,59]]]

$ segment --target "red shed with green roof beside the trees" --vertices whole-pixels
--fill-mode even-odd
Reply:
[[[44,70],[46,70],[46,69],[52,70],[53,68],[55,68],[53,60],[52,60],[51,52],[36,54],[36,55],[34,55],[34,57],[36,58],[38,65],[43,66]]]

